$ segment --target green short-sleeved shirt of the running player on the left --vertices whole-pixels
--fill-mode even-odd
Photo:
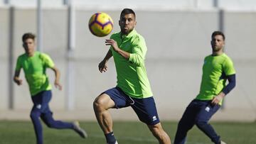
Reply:
[[[21,68],[23,68],[31,96],[51,89],[46,75],[47,67],[54,67],[54,63],[53,60],[44,53],[34,52],[32,57],[28,57],[28,55],[24,53],[18,57],[15,70],[21,70]]]

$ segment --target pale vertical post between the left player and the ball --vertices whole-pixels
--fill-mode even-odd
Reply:
[[[74,67],[74,50],[75,50],[75,9],[73,7],[73,1],[68,2],[68,70],[67,70],[67,95],[65,108],[68,110],[74,109],[74,79],[75,79],[75,67]]]

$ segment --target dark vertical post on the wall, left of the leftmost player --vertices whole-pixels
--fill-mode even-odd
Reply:
[[[14,7],[10,7],[9,13],[9,109],[14,109]]]

